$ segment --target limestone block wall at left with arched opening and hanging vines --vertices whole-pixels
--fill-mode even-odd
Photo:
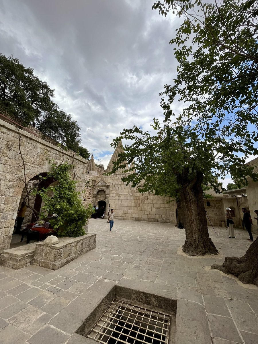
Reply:
[[[26,167],[26,182],[39,173],[50,172],[49,159],[54,159],[56,163],[61,163],[64,159],[75,164],[75,180],[78,182],[76,190],[82,192],[82,198],[85,187],[87,160],[71,151],[65,152],[0,119],[0,252],[10,247],[13,226],[25,185],[19,136]]]

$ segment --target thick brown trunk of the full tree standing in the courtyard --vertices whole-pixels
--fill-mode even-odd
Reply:
[[[188,170],[177,175],[186,236],[182,248],[183,252],[189,256],[218,254],[218,250],[209,238],[202,181],[202,172],[196,172],[194,179],[190,181]]]

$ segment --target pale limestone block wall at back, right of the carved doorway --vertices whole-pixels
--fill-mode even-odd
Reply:
[[[176,204],[174,201],[166,203],[169,197],[156,196],[152,193],[139,193],[130,185],[121,181],[125,174],[94,176],[96,183],[103,179],[110,185],[109,203],[114,208],[117,219],[150,221],[150,222],[176,222]],[[106,211],[108,210],[108,205]]]

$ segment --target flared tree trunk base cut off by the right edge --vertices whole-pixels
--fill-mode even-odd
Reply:
[[[243,283],[254,283],[258,286],[258,237],[250,245],[243,257],[225,257],[222,265],[212,265],[227,275],[232,274]]]

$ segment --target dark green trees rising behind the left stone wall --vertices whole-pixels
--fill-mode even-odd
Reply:
[[[53,97],[54,90],[34,75],[33,68],[25,68],[13,56],[0,54],[0,107],[24,126],[31,124],[88,159],[87,148],[80,146],[79,126],[58,108]]]

